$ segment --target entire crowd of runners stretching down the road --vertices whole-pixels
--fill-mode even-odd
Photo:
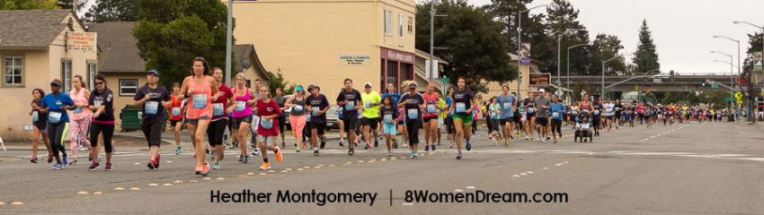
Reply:
[[[268,151],[281,162],[284,159],[281,150],[287,147],[284,138],[287,120],[295,136],[295,150],[313,150],[313,155],[319,156],[326,144],[326,114],[332,104],[338,106],[331,111],[339,116],[339,145],[347,145],[349,156],[359,145],[368,150],[378,148],[378,142],[383,141],[388,156],[393,149],[401,147],[411,150],[412,159],[419,157],[422,143],[424,151],[440,148],[442,130],[445,130],[449,149],[456,148],[456,159],[462,159],[462,150],[471,150],[471,136],[477,135],[478,127],[482,127],[478,126],[481,118],[493,144],[509,147],[511,140],[520,138],[556,143],[563,137],[565,126],[572,128],[576,138],[580,136],[583,142],[591,142],[602,130],[635,125],[723,122],[729,115],[735,115],[725,110],[676,104],[600,101],[589,95],[584,95],[581,101],[564,104],[562,99],[544,89],[518,99],[509,86],[502,86],[499,95],[480,105],[468,89],[472,81],[465,78],[458,78],[458,84],[450,86],[446,95],[433,83],[427,85],[425,92],[418,92],[413,81],[403,82],[401,89],[388,84],[386,92],[380,95],[372,90],[369,82],[359,91],[353,88],[351,79],[345,79],[341,92],[330,103],[321,88],[313,84],[298,85],[291,96],[284,96],[281,89],[270,89],[261,80],[255,80],[253,88],[248,88],[243,73],[237,73],[235,86],[228,87],[223,83],[222,69],[210,68],[202,57],[193,59],[191,75],[182,82],[175,82],[171,90],[158,84],[160,77],[159,71],[149,70],[147,84],[138,88],[133,98],[135,106],[142,107],[140,123],[150,151],[147,168],[159,168],[162,131],[169,120],[175,154],[182,153],[182,125],[188,125],[196,158],[194,170],[202,176],[209,174],[209,168],[221,168],[224,150],[235,148],[239,148],[240,163],[262,156],[262,170],[271,168]],[[105,169],[113,169],[113,92],[102,74],[94,77],[95,86],[90,90],[83,81],[81,76],[75,75],[71,82],[74,89],[68,93],[60,91],[64,82],[58,79],[50,82],[48,94],[45,90],[32,90],[32,163],[38,162],[41,137],[49,150],[48,162],[55,161],[54,169],[76,165],[77,150],[88,151],[91,162],[88,169],[100,168],[101,147],[105,151]],[[271,96],[271,90],[275,97]],[[285,116],[287,110],[289,117]],[[589,134],[584,134],[584,129]],[[231,133],[230,143],[224,142],[226,132]],[[70,156],[63,144],[65,140],[71,142]]]

